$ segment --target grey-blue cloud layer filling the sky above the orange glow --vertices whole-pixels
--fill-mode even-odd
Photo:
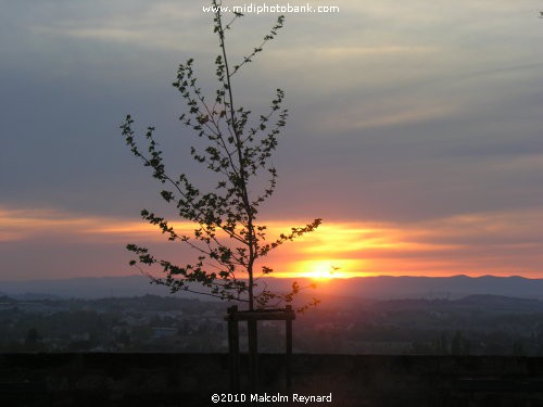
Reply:
[[[123,215],[152,204],[117,126],[130,112],[165,147],[188,147],[169,82],[194,56],[207,86],[211,14],[192,1],[0,3],[0,204]],[[285,88],[292,112],[270,214],[409,221],[543,206],[532,1],[333,3],[338,15],[288,15],[238,82],[255,110]],[[242,18],[233,54],[274,20]]]

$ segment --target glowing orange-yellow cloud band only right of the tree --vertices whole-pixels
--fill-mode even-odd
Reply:
[[[541,207],[421,222],[325,221],[273,260],[280,272],[311,272],[307,267],[333,265],[345,276],[514,272],[539,278],[543,276],[541,227]]]

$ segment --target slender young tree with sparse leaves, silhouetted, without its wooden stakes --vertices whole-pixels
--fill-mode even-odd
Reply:
[[[163,152],[154,138],[154,127],[148,127],[147,148],[141,149],[136,141],[130,115],[121,126],[131,152],[152,169],[153,177],[163,185],[161,196],[175,205],[181,218],[192,221],[194,229],[190,234],[178,233],[168,220],[148,209],[141,211],[142,218],[156,225],[169,241],[189,245],[195,258],[175,265],[156,258],[147,247],[128,244],[127,249],[138,256],[130,265],[139,267],[139,263],[161,268],[165,277],[156,277],[139,267],[153,282],[169,287],[172,292],[185,290],[237,301],[253,310],[277,306],[281,302],[290,303],[300,292],[301,287],[295,282],[288,293],[272,292],[265,284],[260,287],[258,279],[273,272],[260,260],[281,244],[315,230],[321,219],[314,219],[303,227],[291,228],[289,232],[266,240],[267,228],[260,222],[258,211],[262,203],[272,196],[277,183],[277,171],[270,157],[288,116],[287,110],[281,107],[285,93],[277,89],[269,111],[257,118],[253,118],[251,111],[240,106],[235,99],[233,77],[263,50],[266,42],[276,37],[285,17],[279,16],[262,43],[238,64],[231,65],[225,33],[242,14],[235,13],[225,24],[222,2],[214,0],[212,8],[214,33],[220,51],[215,59],[218,85],[215,94],[210,100],[202,94],[192,59],[179,66],[173,86],[181,93],[188,107],[180,120],[205,140],[205,148],[192,147],[190,154],[215,174],[215,187],[203,192],[185,174],[175,177],[166,171]],[[258,191],[263,177],[266,178],[265,187],[260,192],[253,192]],[[314,300],[302,308],[317,302]]]

